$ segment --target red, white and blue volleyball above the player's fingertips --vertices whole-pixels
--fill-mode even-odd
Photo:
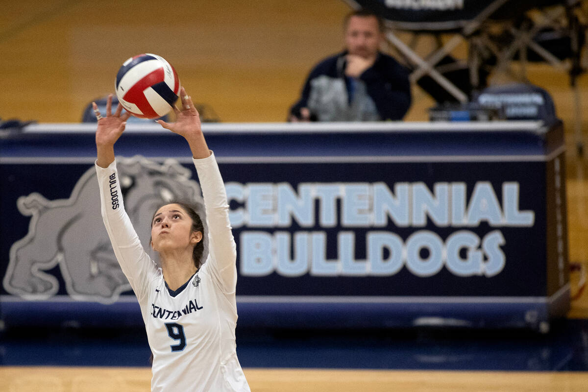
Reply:
[[[161,56],[143,53],[123,63],[116,75],[116,97],[125,110],[154,119],[172,110],[180,91],[173,66]]]

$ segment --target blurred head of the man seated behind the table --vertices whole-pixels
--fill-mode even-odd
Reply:
[[[382,34],[374,16],[352,16],[345,29],[345,47],[350,55],[370,58],[380,47]]]

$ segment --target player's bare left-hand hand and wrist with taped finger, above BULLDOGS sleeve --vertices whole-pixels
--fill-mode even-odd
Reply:
[[[112,114],[112,94],[108,95],[106,100],[106,117],[102,117],[98,106],[92,102],[92,108],[98,119],[98,128],[96,129],[96,163],[100,167],[108,167],[114,160],[114,143],[121,137],[125,130],[126,120],[129,113],[123,114],[122,105],[119,103],[116,111]]]

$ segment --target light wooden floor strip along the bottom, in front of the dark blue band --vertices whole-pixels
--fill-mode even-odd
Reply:
[[[585,392],[588,373],[245,369],[253,392]],[[148,368],[2,367],[0,392],[145,392]]]

